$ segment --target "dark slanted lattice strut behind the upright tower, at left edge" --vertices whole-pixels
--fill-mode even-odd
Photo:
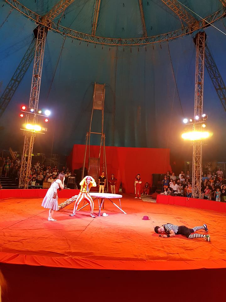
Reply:
[[[0,118],[3,115],[5,109],[7,108],[9,102],[11,101],[14,93],[16,92],[20,82],[22,81],[26,71],[28,70],[32,60],[34,59],[35,55],[35,42],[36,40],[33,39],[24,54],[23,58],[21,59],[16,71],[14,72],[11,80],[9,81],[8,85],[6,86],[1,98],[0,98]]]

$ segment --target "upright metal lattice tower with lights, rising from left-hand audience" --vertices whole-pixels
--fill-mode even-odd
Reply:
[[[44,26],[38,25],[37,39],[35,48],[35,60],[33,67],[33,75],[31,82],[31,92],[29,101],[29,111],[34,109],[31,113],[26,114],[26,124],[37,125],[38,122],[38,102],[41,84],[42,64],[44,58],[44,50],[46,43],[47,29]],[[26,189],[28,187],[27,178],[30,175],[30,166],[32,151],[35,142],[35,131],[24,131],[24,149],[21,157],[21,170],[19,178],[19,187]]]

